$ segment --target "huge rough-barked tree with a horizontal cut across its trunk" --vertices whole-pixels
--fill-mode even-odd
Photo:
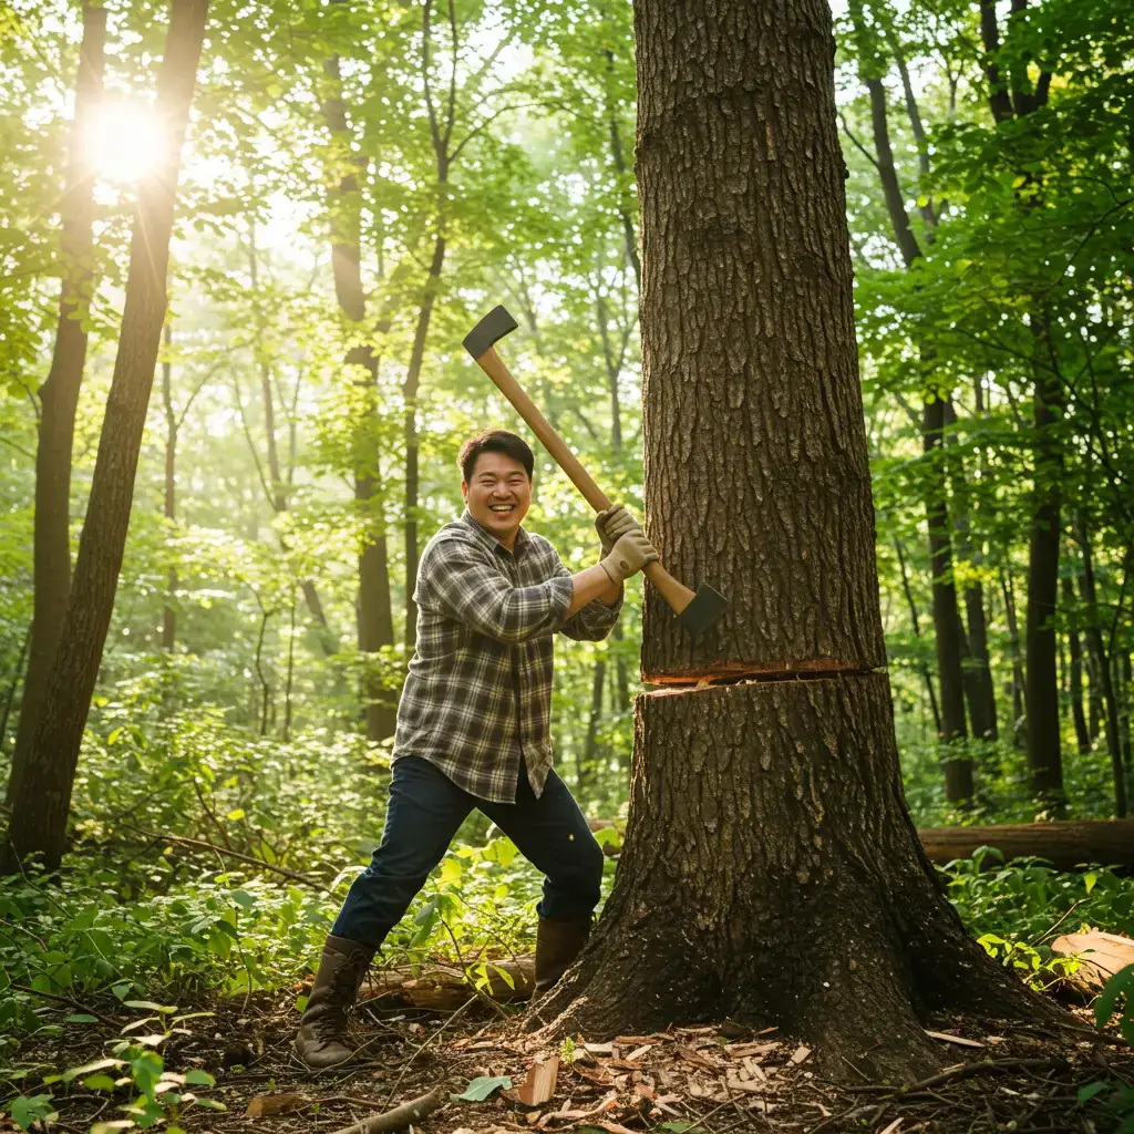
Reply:
[[[635,26],[646,517],[735,599],[692,640],[646,592],[643,668],[689,684],[638,699],[615,890],[532,1022],[729,1016],[920,1076],[934,1009],[1057,1009],[968,937],[905,807],[830,11],[636,0]]]

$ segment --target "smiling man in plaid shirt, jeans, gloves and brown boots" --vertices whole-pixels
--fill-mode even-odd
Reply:
[[[417,649],[398,705],[381,846],[323,946],[296,1036],[311,1067],[350,1059],[347,1013],[371,958],[474,807],[547,875],[535,989],[566,972],[599,902],[602,850],[551,768],[552,635],[600,641],[623,582],[658,558],[620,505],[600,513],[602,558],[572,575],[521,523],[532,450],[490,430],[460,449],[466,510],[430,540],[417,569]]]

